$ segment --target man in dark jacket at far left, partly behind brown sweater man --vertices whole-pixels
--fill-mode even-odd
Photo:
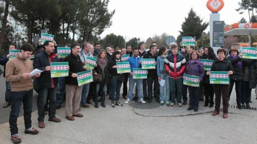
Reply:
[[[10,49],[16,50],[17,47],[16,47],[15,44],[11,44],[11,45],[9,45],[9,50]],[[4,65],[4,77],[5,77],[5,66],[6,66],[6,63],[9,60],[9,57],[10,57],[10,54],[9,54],[9,51],[8,51],[6,54],[4,54],[0,58],[0,64]],[[11,105],[11,85],[10,85],[10,82],[8,82],[8,81],[5,82],[5,85],[6,85],[6,91],[5,91],[5,101],[6,101],[6,104],[4,105],[4,108],[7,108],[8,106]]]

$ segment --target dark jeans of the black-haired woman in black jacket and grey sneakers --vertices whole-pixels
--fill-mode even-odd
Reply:
[[[122,82],[118,80],[118,77],[112,76],[111,77],[111,99],[112,102],[115,100],[115,92],[116,92],[116,102],[119,101],[120,96],[120,89],[121,89]]]

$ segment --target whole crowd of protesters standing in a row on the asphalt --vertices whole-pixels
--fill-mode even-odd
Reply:
[[[194,46],[184,47],[181,51],[175,42],[169,47],[159,47],[153,42],[149,50],[146,50],[144,42],[140,42],[137,48],[127,45],[120,51],[112,46],[100,49],[100,44],[94,46],[89,42],[79,44],[67,44],[71,53],[65,58],[58,58],[55,42],[46,41],[42,44],[41,39],[37,47],[23,44],[20,54],[9,60],[10,54],[4,54],[0,64],[4,65],[4,77],[6,77],[6,104],[11,105],[10,131],[13,143],[20,143],[18,135],[17,118],[21,104],[24,107],[25,133],[37,134],[39,131],[31,125],[31,113],[33,103],[33,89],[38,93],[38,127],[44,128],[44,118],[48,111],[48,121],[61,122],[55,117],[56,109],[60,109],[65,103],[66,118],[75,120],[74,117],[83,117],[80,108],[89,108],[90,100],[94,101],[95,108],[98,102],[105,108],[105,97],[109,95],[111,107],[124,106],[120,100],[121,86],[123,85],[122,97],[125,104],[133,100],[139,103],[152,102],[154,98],[160,105],[179,109],[187,104],[187,89],[189,92],[188,111],[198,111],[199,101],[205,97],[204,107],[213,107],[212,115],[220,112],[220,102],[223,102],[223,118],[228,117],[230,95],[235,84],[237,108],[250,108],[251,90],[256,88],[257,63],[253,59],[242,58],[242,53],[231,48],[227,54],[225,49],[218,49],[217,54],[212,47],[200,48],[199,52]],[[9,49],[16,50],[14,44]],[[29,57],[34,52],[34,61]],[[119,74],[117,63],[122,62],[121,56],[129,55],[127,60],[131,72]],[[217,56],[216,56],[217,55]],[[93,82],[78,85],[77,73],[86,71],[86,57],[96,57],[95,67],[92,70]],[[155,60],[155,68],[147,70],[147,79],[133,79],[133,69],[142,68],[142,59]],[[211,84],[210,71],[204,70],[204,64],[200,59],[213,60],[210,71],[228,72],[230,84]],[[67,77],[51,78],[52,62],[68,62],[69,75]],[[30,72],[37,68],[43,72],[31,77]],[[199,77],[199,87],[187,86],[183,83],[184,74]],[[160,81],[164,85],[160,85]],[[129,82],[129,83],[128,83]],[[129,86],[129,87],[127,87]],[[133,94],[136,87],[136,93]],[[215,94],[215,98],[214,98]],[[134,97],[133,97],[134,96]],[[100,99],[99,99],[100,97]],[[183,100],[183,101],[182,101]],[[215,100],[215,101],[214,101]]]

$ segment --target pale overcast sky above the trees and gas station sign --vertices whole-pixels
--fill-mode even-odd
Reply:
[[[207,9],[208,0],[110,0],[108,10],[115,9],[112,26],[100,36],[114,33],[126,36],[126,41],[132,37],[139,37],[145,41],[153,35],[166,32],[175,38],[179,35],[181,24],[185,21],[190,8],[204,21],[209,22],[211,11]],[[220,10],[220,20],[226,24],[238,22],[242,17],[249,21],[248,13],[239,15],[235,9],[241,0],[223,0],[225,5]],[[209,27],[206,32],[209,31]]]

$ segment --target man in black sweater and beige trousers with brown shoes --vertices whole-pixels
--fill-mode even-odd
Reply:
[[[83,117],[82,114],[79,113],[79,104],[81,100],[81,86],[78,85],[77,81],[77,73],[83,72],[83,63],[80,59],[80,45],[73,44],[71,46],[72,52],[70,55],[66,56],[64,61],[69,62],[70,70],[69,76],[66,77],[65,80],[65,89],[66,89],[66,103],[65,103],[65,111],[66,118],[68,120],[74,120],[74,116]]]

